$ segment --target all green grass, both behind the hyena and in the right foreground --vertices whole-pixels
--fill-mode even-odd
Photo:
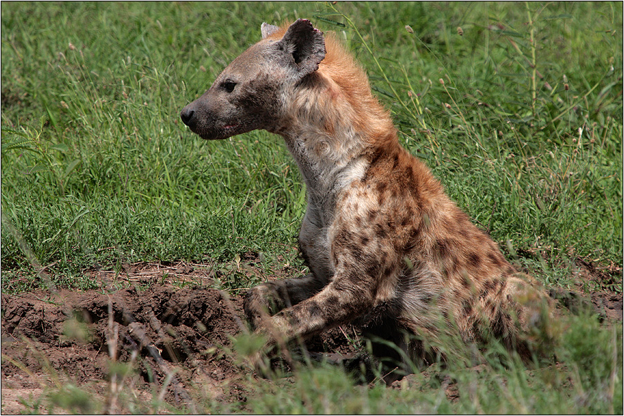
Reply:
[[[296,263],[305,189],[282,140],[255,131],[204,142],[178,114],[259,39],[263,21],[297,17],[344,37],[401,142],[517,265],[547,285],[622,292],[620,3],[0,7],[3,292],[45,286],[40,267],[55,285],[86,289],[99,283],[85,270],[138,261],[227,267],[251,250],[268,265]],[[616,267],[580,282],[579,258]],[[453,405],[434,381],[354,390],[321,368],[252,407],[621,413],[621,330],[591,325],[571,324],[567,367],[552,374],[451,369],[472,392]],[[606,367],[588,358],[611,357],[614,343]],[[615,397],[601,396],[609,380]],[[330,381],[327,401],[305,388]]]

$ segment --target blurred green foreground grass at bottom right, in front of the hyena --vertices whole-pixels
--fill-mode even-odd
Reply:
[[[260,384],[248,402],[258,414],[605,414],[622,412],[621,328],[599,328],[589,316],[575,318],[567,332],[565,366],[527,369],[493,357],[468,368],[433,365],[398,382],[354,386],[335,366],[315,366],[290,379]],[[598,337],[599,350],[594,350]],[[468,347],[466,347],[468,352]],[[509,358],[509,357],[508,357]],[[620,377],[618,379],[618,377]],[[455,398],[446,397],[453,386]],[[396,387],[396,386],[394,386]]]

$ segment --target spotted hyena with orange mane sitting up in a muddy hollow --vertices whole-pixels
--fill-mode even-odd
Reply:
[[[249,290],[253,328],[274,345],[356,322],[421,362],[449,335],[492,334],[526,352],[521,334],[541,319],[542,289],[399,144],[354,58],[305,19],[263,23],[261,35],[181,112],[207,140],[281,135],[304,178],[310,273]],[[387,344],[374,353],[405,357]]]

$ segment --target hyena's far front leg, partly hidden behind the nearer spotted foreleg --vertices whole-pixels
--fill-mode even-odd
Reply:
[[[310,273],[253,287],[247,292],[243,303],[247,319],[253,329],[259,328],[270,316],[308,299],[322,290],[325,284]]]

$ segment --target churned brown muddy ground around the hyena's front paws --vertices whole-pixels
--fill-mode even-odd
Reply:
[[[172,284],[176,274],[182,280]],[[194,412],[215,403],[245,410],[250,386],[268,381],[232,350],[231,337],[246,331],[241,296],[197,285],[194,278],[208,276],[190,265],[135,265],[116,278],[125,287],[113,289],[104,276],[108,290],[2,294],[2,413],[153,413],[166,406]],[[621,294],[597,292],[591,303],[621,321]],[[317,357],[350,358],[357,339],[347,326],[306,347]]]

